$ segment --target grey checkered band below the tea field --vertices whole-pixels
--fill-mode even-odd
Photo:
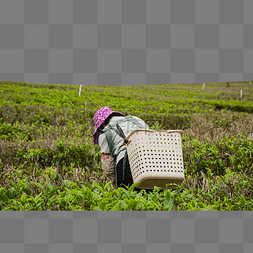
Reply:
[[[250,253],[252,212],[2,212],[3,253]]]

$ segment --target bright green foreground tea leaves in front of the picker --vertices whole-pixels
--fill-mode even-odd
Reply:
[[[225,184],[229,184],[230,176],[225,178]],[[35,185],[37,186],[35,194],[31,194],[31,190],[24,188],[24,185],[22,185],[23,187],[19,185],[19,189],[12,188],[12,190],[7,191],[5,188],[1,188],[1,210],[215,211],[253,209],[253,203],[248,197],[228,195],[222,184],[218,184],[217,189],[213,189],[212,194],[205,194],[200,190],[197,190],[197,194],[193,194],[191,190],[180,191],[178,188],[172,192],[170,190],[160,192],[158,187],[155,187],[152,193],[146,193],[145,190],[137,193],[130,188],[115,190],[111,183],[77,185],[68,180],[65,180],[64,186],[56,188],[50,184]],[[29,184],[29,186],[31,185]],[[236,185],[233,187],[234,191],[241,189],[238,187],[236,189]],[[218,191],[221,191],[221,197],[218,197]]]

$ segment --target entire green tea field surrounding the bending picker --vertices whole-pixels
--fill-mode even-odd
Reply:
[[[252,210],[253,85],[226,86],[82,86],[79,97],[77,85],[0,82],[0,209]],[[105,184],[92,142],[104,105],[184,130],[186,180],[149,194]]]

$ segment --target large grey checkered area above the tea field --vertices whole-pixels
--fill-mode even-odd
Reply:
[[[252,80],[252,8],[251,0],[2,0],[0,80]]]

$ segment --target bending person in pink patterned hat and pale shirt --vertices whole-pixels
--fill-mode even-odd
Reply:
[[[102,170],[107,181],[111,181],[115,189],[133,184],[124,138],[117,129],[117,124],[125,137],[134,130],[148,130],[148,125],[138,117],[125,117],[108,106],[103,106],[95,113],[94,121],[94,143],[100,146]]]

